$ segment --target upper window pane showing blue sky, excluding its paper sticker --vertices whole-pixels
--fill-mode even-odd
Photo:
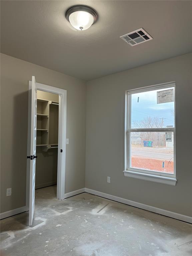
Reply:
[[[132,94],[131,128],[174,127],[174,102],[157,104],[157,92],[170,89],[174,87]]]

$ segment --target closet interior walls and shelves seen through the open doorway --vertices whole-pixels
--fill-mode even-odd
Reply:
[[[58,121],[58,94],[38,90],[36,189],[57,184]]]

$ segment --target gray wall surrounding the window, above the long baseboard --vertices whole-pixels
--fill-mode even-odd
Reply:
[[[87,188],[192,216],[192,54],[87,83]],[[125,91],[176,81],[176,186],[124,177]],[[111,183],[107,183],[111,176]]]

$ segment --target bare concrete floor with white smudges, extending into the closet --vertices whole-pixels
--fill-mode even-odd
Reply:
[[[28,213],[1,221],[1,256],[191,256],[192,225],[83,193],[36,190]]]

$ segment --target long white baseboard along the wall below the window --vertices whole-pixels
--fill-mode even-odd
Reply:
[[[163,209],[156,208],[156,207],[153,207],[153,206],[150,206],[150,205],[134,202],[134,201],[131,201],[131,200],[128,200],[128,199],[125,199],[125,198],[121,198],[121,197],[118,197],[118,196],[113,196],[113,195],[106,194],[106,193],[103,193],[103,192],[99,192],[99,191],[96,191],[96,190],[92,190],[92,189],[89,189],[89,188],[85,188],[85,192],[96,195],[96,196],[101,196],[101,197],[104,197],[104,198],[107,198],[107,199],[110,199],[110,200],[113,200],[113,201],[117,201],[119,203],[128,204],[128,205],[131,205],[131,206],[143,209],[143,210],[147,210],[147,211],[150,211],[150,212],[165,215],[167,217],[171,217],[171,218],[174,218],[174,219],[177,219],[177,220],[182,220],[182,221],[185,221],[185,222],[192,223],[192,217],[190,217],[190,216],[182,215],[182,214],[175,213],[175,212],[170,212],[170,211],[167,211],[167,210],[163,210]]]

